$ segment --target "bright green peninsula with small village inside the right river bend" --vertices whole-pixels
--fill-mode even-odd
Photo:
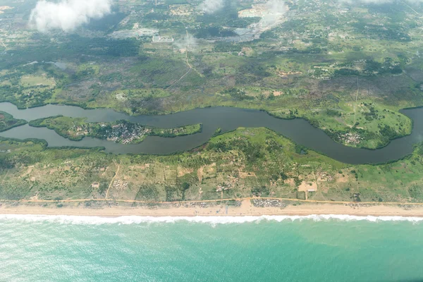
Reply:
[[[272,111],[281,118],[306,118],[343,145],[369,149],[381,148],[398,137],[409,135],[412,121],[407,116],[369,101],[338,103],[335,109],[319,111]]]

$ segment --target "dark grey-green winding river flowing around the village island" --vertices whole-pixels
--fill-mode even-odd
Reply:
[[[274,118],[264,111],[251,109],[213,107],[193,109],[191,111],[183,111],[165,116],[128,116],[111,109],[82,109],[78,106],[51,104],[38,108],[20,110],[15,105],[4,102],[0,103],[0,111],[5,111],[13,115],[14,118],[25,119],[26,121],[61,114],[74,118],[86,117],[90,122],[126,119],[135,123],[161,128],[174,128],[195,123],[203,124],[201,133],[173,138],[149,136],[144,142],[135,145],[123,145],[92,137],[85,137],[81,141],[71,141],[61,137],[54,130],[33,128],[29,125],[12,128],[11,130],[0,133],[2,137],[44,139],[49,143],[49,147],[101,146],[106,148],[106,152],[116,154],[171,154],[173,152],[186,151],[207,142],[214,134],[216,128],[221,128],[222,133],[225,133],[235,130],[238,127],[269,128],[300,145],[304,145],[348,164],[374,164],[400,159],[412,152],[412,145],[414,143],[423,141],[423,109],[407,109],[401,111],[414,121],[412,134],[393,140],[388,146],[377,150],[358,149],[341,145],[331,140],[323,131],[312,127],[307,121],[300,118],[283,120]]]

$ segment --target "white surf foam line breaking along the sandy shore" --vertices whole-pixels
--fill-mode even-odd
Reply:
[[[249,223],[259,221],[409,221],[418,223],[423,217],[407,216],[350,216],[347,214],[311,214],[308,216],[65,216],[65,215],[31,215],[0,214],[0,221],[56,222],[63,224],[139,224],[139,223],[175,223],[188,221],[193,223],[209,223],[212,225],[226,223]]]

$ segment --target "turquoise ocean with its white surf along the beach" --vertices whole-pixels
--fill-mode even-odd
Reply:
[[[423,219],[0,215],[0,281],[423,281]]]

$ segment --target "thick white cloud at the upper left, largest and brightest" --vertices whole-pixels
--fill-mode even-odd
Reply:
[[[62,0],[59,3],[38,1],[31,11],[30,26],[39,32],[71,32],[92,18],[102,18],[111,13],[111,4],[112,0]]]

